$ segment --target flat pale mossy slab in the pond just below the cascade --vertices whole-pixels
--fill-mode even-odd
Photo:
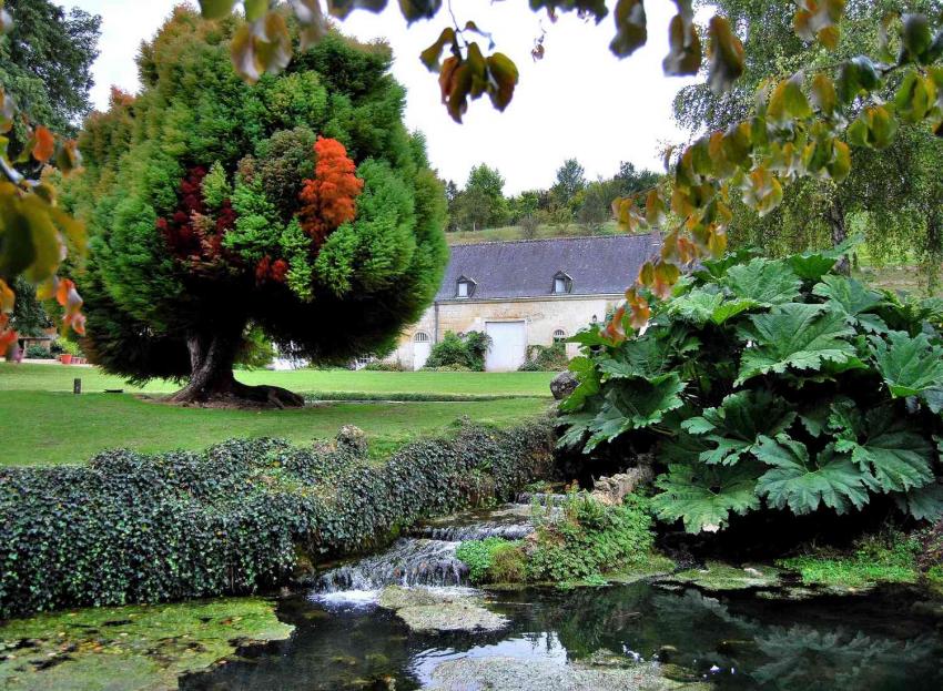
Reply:
[[[378,604],[392,609],[410,631],[491,632],[508,626],[508,620],[483,607],[477,595],[450,589],[400,588],[388,586]]]

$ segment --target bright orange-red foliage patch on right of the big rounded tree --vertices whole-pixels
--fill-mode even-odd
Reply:
[[[314,180],[305,180],[298,195],[302,227],[317,250],[339,225],[357,215],[356,199],[364,181],[356,177],[356,166],[344,144],[336,139],[317,138],[314,144],[317,163]]]

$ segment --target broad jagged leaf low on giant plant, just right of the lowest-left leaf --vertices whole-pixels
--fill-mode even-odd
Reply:
[[[780,435],[775,439],[762,437],[753,454],[760,463],[772,466],[757,480],[757,491],[773,508],[788,506],[801,516],[821,504],[839,514],[868,504],[863,474],[848,455],[831,447],[825,447],[812,463],[804,444]]]

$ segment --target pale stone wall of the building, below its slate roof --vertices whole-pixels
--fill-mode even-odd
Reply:
[[[594,317],[606,318],[608,311],[621,299],[621,295],[561,295],[540,298],[446,301],[429,307],[423,317],[408,327],[399,345],[386,362],[399,363],[413,369],[415,335],[423,332],[432,343],[442,339],[446,332],[464,333],[485,331],[485,322],[526,322],[527,345],[550,345],[554,332],[561,329],[571,336],[586,327]],[[436,314],[437,313],[437,314]],[[436,318],[437,317],[437,318]],[[438,328],[436,328],[436,325]],[[577,354],[575,344],[567,344],[567,355]]]

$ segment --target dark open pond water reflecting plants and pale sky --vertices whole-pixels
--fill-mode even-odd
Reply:
[[[420,689],[437,664],[503,656],[555,664],[605,650],[667,662],[719,689],[922,691],[943,689],[943,637],[891,593],[783,602],[707,597],[646,583],[493,597],[511,620],[485,636],[419,636],[372,607],[286,601],[292,640],[182,683],[209,689]],[[549,691],[549,690],[548,690]]]

